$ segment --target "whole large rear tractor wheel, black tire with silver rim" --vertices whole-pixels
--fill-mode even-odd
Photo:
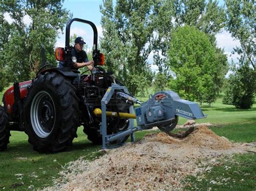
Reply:
[[[77,137],[79,107],[76,89],[62,75],[39,74],[25,100],[25,133],[33,150],[64,151]]]

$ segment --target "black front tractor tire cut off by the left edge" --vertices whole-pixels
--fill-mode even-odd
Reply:
[[[10,143],[9,138],[11,134],[8,125],[8,113],[4,107],[0,106],[0,151],[6,150],[7,144]]]

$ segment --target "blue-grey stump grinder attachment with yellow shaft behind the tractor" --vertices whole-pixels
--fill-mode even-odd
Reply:
[[[109,104],[115,91],[117,91],[115,94],[117,98],[125,99],[126,103],[130,104],[130,114],[106,111],[106,105]],[[102,135],[103,148],[119,146],[121,145],[121,140],[129,135],[131,135],[131,142],[134,142],[133,132],[149,130],[154,126],[157,126],[161,131],[169,133],[176,127],[178,117],[184,117],[187,119],[200,119],[207,117],[203,114],[197,103],[183,100],[178,96],[178,94],[170,90],[159,91],[154,95],[150,95],[149,100],[146,102],[140,103],[137,98],[129,95],[129,91],[127,91],[126,87],[112,86],[107,89],[101,103],[101,110],[99,108],[95,109],[94,114],[102,117],[100,133]],[[140,104],[140,107],[133,109],[134,103]],[[129,129],[120,131],[114,135],[107,135],[106,117],[129,118]],[[136,127],[134,127],[134,119],[137,121]]]

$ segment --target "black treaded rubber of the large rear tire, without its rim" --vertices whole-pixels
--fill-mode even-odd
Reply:
[[[38,152],[60,152],[64,151],[68,146],[72,145],[72,141],[77,137],[77,128],[79,125],[79,107],[78,97],[75,93],[75,88],[72,84],[65,80],[64,77],[57,73],[45,73],[44,75],[39,74],[38,78],[32,83],[28,90],[28,98],[30,91],[41,84],[50,83],[55,87],[58,98],[60,99],[59,107],[62,112],[62,122],[59,126],[58,135],[56,139],[50,142],[44,142],[40,138],[35,138],[35,135],[31,134],[32,126],[30,122],[26,123],[25,133],[29,136],[29,143],[33,145],[33,149]],[[31,101],[25,101],[25,110],[30,109]],[[32,130],[33,131],[33,130]]]

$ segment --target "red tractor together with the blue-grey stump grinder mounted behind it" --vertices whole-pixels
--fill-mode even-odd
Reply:
[[[89,24],[93,29],[95,67],[89,75],[69,67],[74,59],[69,45],[74,21]],[[80,125],[89,140],[110,148],[122,145],[129,136],[133,142],[133,132],[154,126],[168,133],[176,127],[178,117],[206,117],[197,103],[183,100],[171,90],[150,95],[143,103],[131,96],[111,72],[99,66],[104,63],[104,55],[97,49],[97,29],[92,22],[78,18],[68,22],[65,48],[56,48],[55,53],[65,67],[46,69],[49,64],[45,64],[42,49],[43,67],[35,79],[14,83],[4,93],[0,107],[1,151],[9,143],[10,130],[25,131],[36,151],[59,152],[72,145]],[[133,110],[134,103],[140,107]]]

